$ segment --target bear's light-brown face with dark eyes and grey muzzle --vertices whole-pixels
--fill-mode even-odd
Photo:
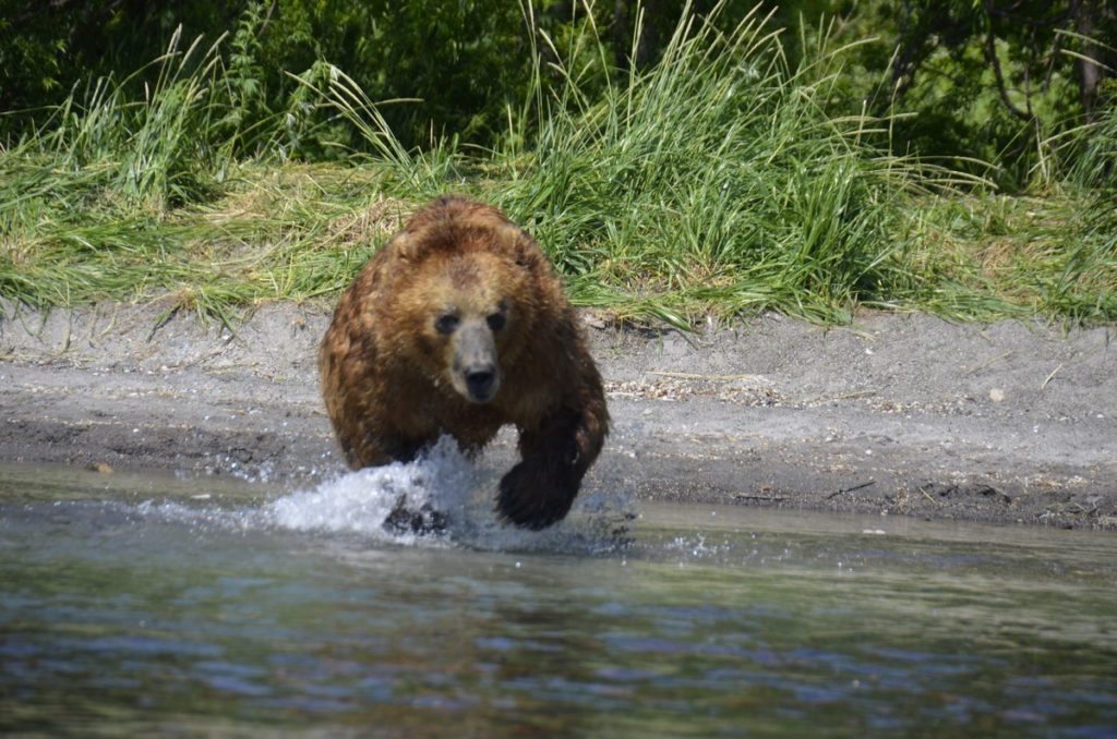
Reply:
[[[491,402],[517,338],[531,325],[527,275],[514,262],[472,253],[432,260],[401,296],[428,375],[470,403]]]

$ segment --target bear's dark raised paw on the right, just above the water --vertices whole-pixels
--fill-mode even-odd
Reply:
[[[541,466],[524,461],[500,480],[496,510],[503,520],[538,531],[566,517],[577,488],[579,481],[566,470],[548,474]]]

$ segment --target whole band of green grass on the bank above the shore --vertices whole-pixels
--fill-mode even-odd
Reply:
[[[383,80],[316,57],[265,73],[269,12],[249,6],[217,42],[175,33],[131,76],[9,114],[0,295],[160,300],[230,323],[261,301],[332,299],[410,210],[454,191],[504,208],[576,304],[622,318],[772,308],[844,321],[869,306],[1117,320],[1117,104],[1104,85],[1091,117],[1035,140],[1028,190],[1010,196],[991,177],[1016,163],[933,166],[897,134],[918,118],[896,100],[848,109],[877,44],[848,41],[850,23],[785,39],[761,10],[686,11],[653,59],[622,69],[595,16],[528,11],[518,30],[489,18],[468,50],[487,61],[447,77],[486,75],[506,54],[471,83],[500,88],[503,109],[493,87],[462,93],[485,100],[472,113],[447,93],[435,117],[457,127],[428,126],[417,145],[420,118],[400,112],[418,104],[366,92]],[[455,17],[439,18],[441,44]],[[628,28],[639,60],[639,15]],[[391,41],[412,55],[391,74],[437,75],[416,38]],[[30,54],[0,54],[13,49]]]

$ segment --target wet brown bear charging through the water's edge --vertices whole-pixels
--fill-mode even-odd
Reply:
[[[353,469],[407,461],[441,434],[467,453],[514,424],[522,461],[499,516],[566,516],[609,432],[601,376],[540,247],[497,209],[441,198],[342,296],[322,342],[326,409]]]

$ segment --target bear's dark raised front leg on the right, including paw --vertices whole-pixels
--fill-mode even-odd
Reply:
[[[500,480],[500,518],[536,531],[562,520],[601,451],[607,424],[592,410],[563,407],[538,429],[522,429],[523,461]]]

